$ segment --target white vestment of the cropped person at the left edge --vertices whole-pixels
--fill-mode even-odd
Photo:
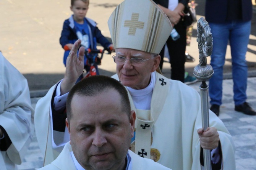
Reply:
[[[15,164],[21,164],[32,140],[34,109],[31,106],[27,80],[3,57],[2,53],[0,53],[0,125],[11,140],[8,149],[1,150],[0,169],[14,170]],[[3,141],[0,146],[1,144]]]

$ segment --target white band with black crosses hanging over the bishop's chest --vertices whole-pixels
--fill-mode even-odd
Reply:
[[[155,73],[153,73],[155,74]],[[115,77],[114,77],[115,76]],[[118,79],[117,75],[112,76],[114,79]],[[131,109],[136,111],[135,120],[135,141],[131,143],[131,151],[138,154],[141,157],[153,159],[157,162],[160,159],[160,152],[156,148],[151,148],[152,141],[152,127],[156,122],[159,114],[162,111],[165,100],[168,95],[170,84],[169,80],[161,74],[156,74],[156,84],[151,99],[151,110],[136,109],[133,103],[133,99],[129,95]],[[153,82],[155,83],[155,82]],[[159,95],[163,94],[163,95]]]

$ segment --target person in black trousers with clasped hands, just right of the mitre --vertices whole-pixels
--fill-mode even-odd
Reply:
[[[174,29],[177,30],[180,38],[173,40],[171,36],[166,41],[170,55],[171,79],[184,82],[185,75],[185,51],[186,51],[186,26],[183,24],[182,17],[188,0],[153,0],[168,16]],[[161,56],[160,69],[162,69],[164,48],[159,53]]]

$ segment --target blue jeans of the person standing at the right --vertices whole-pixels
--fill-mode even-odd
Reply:
[[[235,105],[246,101],[247,64],[245,54],[251,32],[251,21],[226,22],[225,24],[209,23],[212,32],[213,51],[211,66],[214,70],[209,80],[211,104],[222,104],[223,66],[229,41],[232,56],[233,99]]]

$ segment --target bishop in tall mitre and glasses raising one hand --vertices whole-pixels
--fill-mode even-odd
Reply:
[[[157,72],[158,54],[172,31],[163,11],[152,0],[125,0],[113,11],[108,23],[116,49],[113,58],[117,74],[113,78],[127,88],[131,108],[136,112],[131,150],[172,169],[198,170],[203,166],[201,151],[211,149],[213,170],[235,169],[235,147],[223,122],[209,111],[210,127],[203,131],[198,92]],[[44,140],[46,137],[41,138],[47,143],[41,144],[42,151],[48,149],[46,158],[54,156],[55,148],[66,141],[67,130],[61,117],[65,119],[66,95],[83,71],[83,48],[79,49],[78,58],[76,56],[80,43],[78,40],[71,50],[72,62],[65,78],[37,104],[37,115],[45,120],[44,123],[38,121],[39,124],[49,125],[47,119],[53,120],[48,143]],[[37,129],[40,133],[40,128]]]

